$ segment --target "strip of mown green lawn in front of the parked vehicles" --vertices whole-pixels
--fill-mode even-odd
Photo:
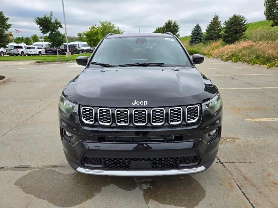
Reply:
[[[78,56],[88,56],[90,57],[90,53],[84,54],[75,54],[71,57],[66,57],[66,55],[59,55],[59,59],[57,59],[57,55],[42,55],[42,56],[2,56],[0,57],[0,61],[35,61],[36,63],[44,63],[44,62],[60,62],[60,61],[75,61]]]

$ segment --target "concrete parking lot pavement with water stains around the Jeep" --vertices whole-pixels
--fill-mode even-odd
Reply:
[[[79,174],[66,162],[57,108],[75,63],[0,62],[0,207],[278,207],[278,68],[206,59],[224,123],[217,159],[165,177]]]

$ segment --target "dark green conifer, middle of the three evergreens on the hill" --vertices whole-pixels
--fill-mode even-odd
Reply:
[[[215,14],[210,20],[209,25],[206,27],[204,42],[221,39],[221,32],[221,21],[219,21],[219,16]]]

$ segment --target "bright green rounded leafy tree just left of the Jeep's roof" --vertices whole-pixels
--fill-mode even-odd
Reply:
[[[119,27],[116,27],[114,23],[110,21],[100,21],[100,25],[93,25],[89,28],[89,31],[85,31],[86,41],[89,46],[96,46],[99,41],[105,37],[108,33],[120,34],[124,33]]]

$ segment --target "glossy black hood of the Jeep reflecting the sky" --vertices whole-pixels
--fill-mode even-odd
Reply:
[[[104,107],[191,105],[216,93],[215,85],[194,67],[89,68],[63,91],[73,103]],[[148,104],[132,104],[137,101]]]

